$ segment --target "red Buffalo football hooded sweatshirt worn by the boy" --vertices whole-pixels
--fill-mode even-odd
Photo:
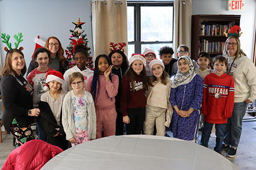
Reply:
[[[234,106],[234,80],[232,76],[214,73],[204,78],[202,113],[211,124],[226,124]]]

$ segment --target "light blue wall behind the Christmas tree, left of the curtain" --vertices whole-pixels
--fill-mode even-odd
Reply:
[[[44,41],[49,36],[60,39],[64,49],[67,48],[69,40],[69,29],[74,29],[80,17],[92,49],[91,10],[89,0],[0,0],[0,32],[11,35],[10,42],[14,47],[13,35],[23,33],[23,41],[20,46],[24,47],[23,53],[26,64],[30,63],[34,53],[34,39],[39,35]],[[1,40],[2,41],[2,40]],[[6,45],[0,42],[2,65],[6,52]],[[92,51],[92,50],[91,50]]]

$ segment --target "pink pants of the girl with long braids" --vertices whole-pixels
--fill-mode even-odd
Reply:
[[[115,135],[115,120],[117,119],[115,107],[112,109],[95,109],[97,118],[96,139],[101,138],[102,127],[104,127],[104,137]]]

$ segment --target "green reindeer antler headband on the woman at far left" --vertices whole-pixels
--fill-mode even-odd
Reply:
[[[8,34],[6,35],[6,33],[2,33],[2,35],[1,35],[1,38],[3,39],[2,42],[7,45],[7,46],[4,48],[6,52],[9,52],[9,50],[13,49],[13,48],[11,48],[11,42],[9,42],[10,37],[11,37],[11,36],[8,35]],[[14,42],[15,49],[18,49],[19,42],[22,42],[22,41],[23,41],[22,37],[23,37],[23,35],[22,35],[21,32],[18,33],[18,35],[16,35],[16,34],[14,35],[14,39],[16,40],[16,42]],[[8,47],[9,49],[8,49],[7,47]],[[23,47],[20,46],[19,50],[23,50]]]

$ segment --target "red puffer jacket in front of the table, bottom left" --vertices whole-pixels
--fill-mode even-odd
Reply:
[[[39,170],[60,152],[63,152],[61,148],[42,140],[28,141],[10,153],[2,170]]]

